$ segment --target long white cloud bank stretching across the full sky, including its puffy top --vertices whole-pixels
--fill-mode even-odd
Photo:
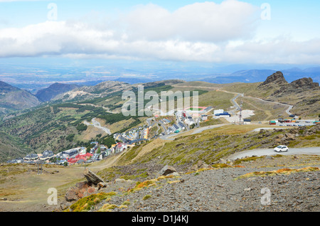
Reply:
[[[255,7],[228,0],[174,12],[148,4],[101,21],[46,21],[0,30],[0,58],[61,55],[228,63],[320,63],[320,39],[255,40]]]

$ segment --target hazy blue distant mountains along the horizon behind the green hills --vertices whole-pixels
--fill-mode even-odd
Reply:
[[[170,72],[169,72],[170,73]],[[192,81],[203,81],[215,84],[228,84],[233,82],[256,83],[264,82],[267,77],[277,73],[276,70],[239,70],[230,74],[215,74],[187,76]],[[282,70],[282,75],[286,82],[293,82],[302,77],[312,78],[312,82],[320,82],[320,67],[306,68],[304,70],[299,68],[291,68]],[[172,77],[167,77],[164,80],[171,80]],[[178,79],[176,79],[178,80]],[[119,90],[127,89],[132,85],[138,83],[156,82],[156,79],[150,78],[136,78],[136,77],[114,77],[112,80],[102,81],[95,80],[95,82],[88,82],[87,85],[66,84],[63,82],[55,82],[54,84],[42,90],[38,90],[36,95],[31,92],[23,90],[18,87],[9,85],[6,82],[0,82],[0,117],[5,114],[10,114],[16,110],[36,107],[41,102],[50,102],[53,99],[86,99],[87,97],[98,97],[108,92],[117,92]],[[182,80],[179,80],[182,81]],[[308,82],[302,80],[303,82]],[[70,91],[76,92],[70,92]]]

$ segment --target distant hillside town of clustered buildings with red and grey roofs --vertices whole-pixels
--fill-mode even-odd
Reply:
[[[210,113],[211,111],[213,111],[213,114]],[[113,134],[115,144],[112,144],[110,147],[99,144],[97,141],[92,141],[90,143],[90,148],[78,147],[61,151],[58,154],[46,150],[41,154],[27,154],[24,158],[15,158],[7,161],[7,163],[56,164],[63,166],[92,163],[118,154],[132,146],[156,139],[159,136],[178,134],[181,131],[189,131],[190,129],[200,127],[200,122],[207,122],[209,120],[208,116],[213,117],[214,119],[223,117],[232,124],[250,124],[251,119],[248,118],[253,114],[253,111],[250,110],[243,111],[243,113],[241,110],[240,114],[232,115],[229,112],[225,112],[223,109],[213,110],[213,107],[188,107],[188,109],[174,112],[174,117],[169,117],[167,115],[159,116],[155,114],[154,117],[146,119],[147,125],[144,124],[142,127],[133,128],[123,133]],[[269,124],[276,126],[301,127],[320,123],[315,120],[302,121],[293,114],[289,117],[292,119],[272,120]],[[150,136],[150,130],[154,126],[158,127],[157,131],[161,129],[161,133]]]

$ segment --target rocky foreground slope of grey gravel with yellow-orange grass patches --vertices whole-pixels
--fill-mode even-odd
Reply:
[[[119,178],[99,181],[94,194],[65,210],[318,212],[319,167],[319,156],[263,156],[204,168],[198,163],[188,172],[168,167],[142,183]]]

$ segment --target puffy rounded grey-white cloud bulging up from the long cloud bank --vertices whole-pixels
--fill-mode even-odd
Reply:
[[[139,6],[124,18],[132,38],[186,41],[228,41],[252,35],[257,8],[241,1],[195,3],[170,13],[148,4]]]

